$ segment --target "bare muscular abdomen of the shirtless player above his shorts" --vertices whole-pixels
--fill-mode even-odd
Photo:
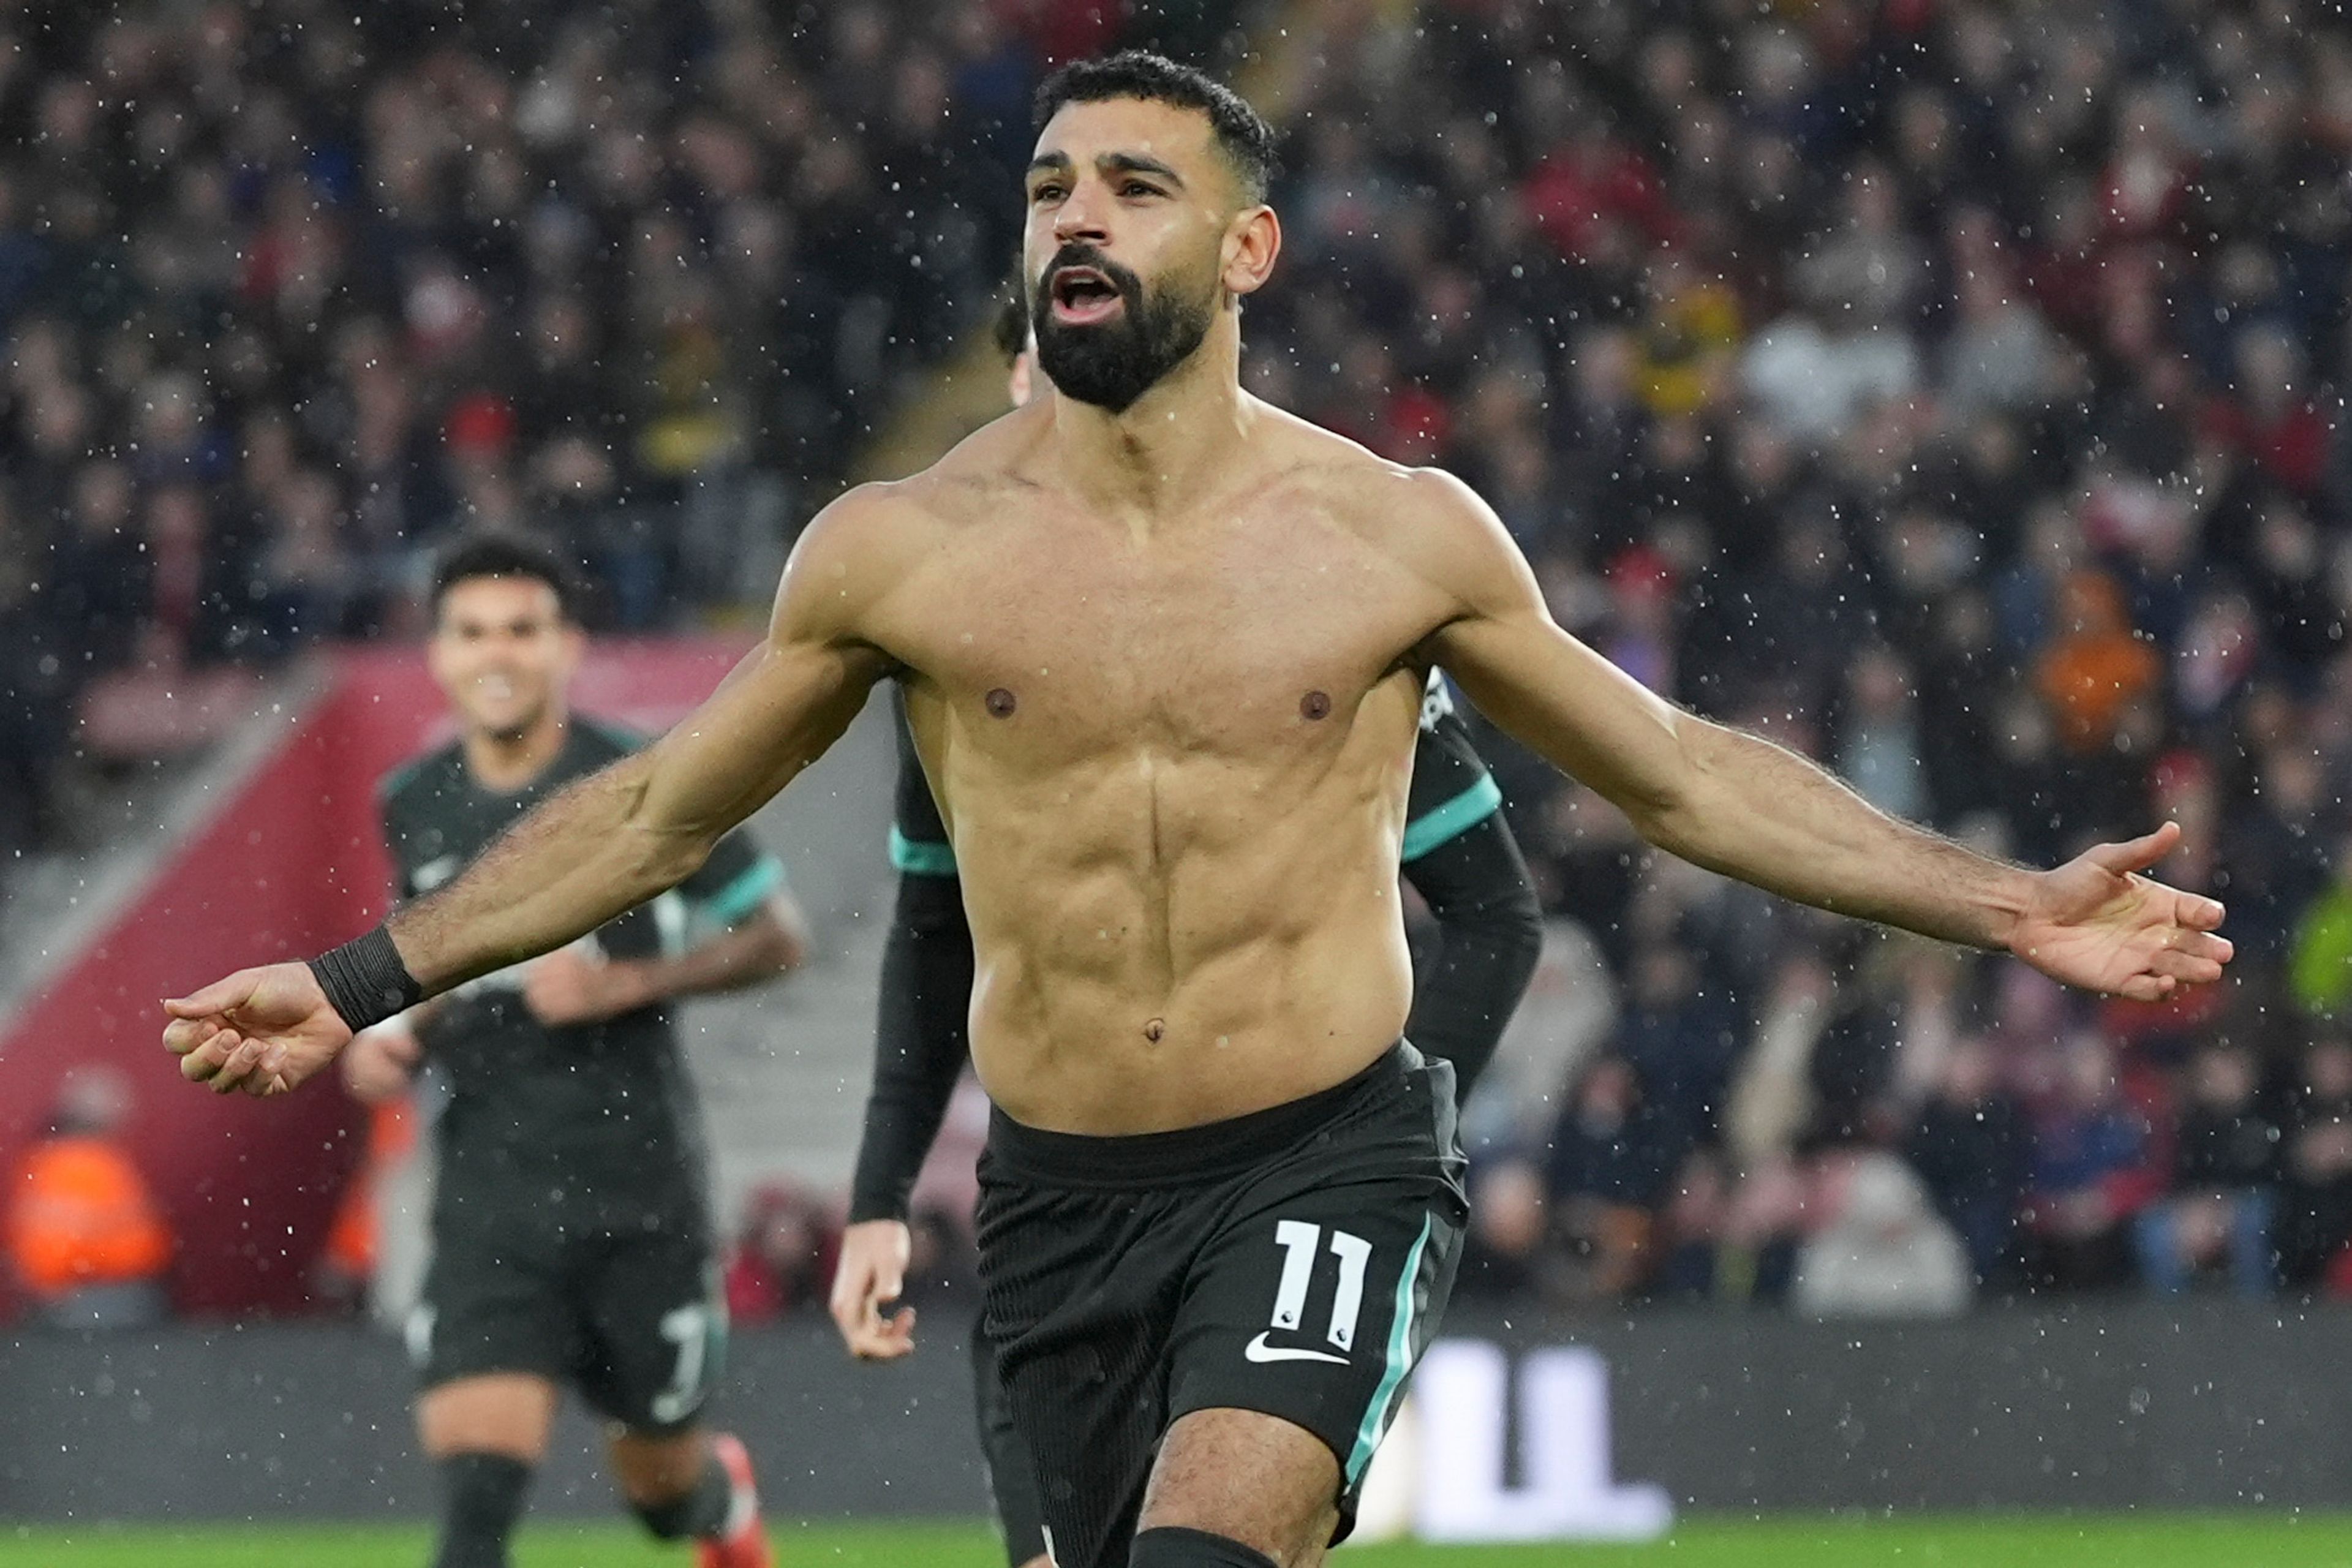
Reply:
[[[1404,1027],[1397,769],[1131,745],[971,785],[971,1048],[1016,1121],[1218,1121],[1350,1077]]]

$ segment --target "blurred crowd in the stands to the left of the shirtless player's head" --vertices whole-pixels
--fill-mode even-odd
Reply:
[[[1040,73],[1230,9],[0,7],[0,865],[94,679],[412,630],[461,529],[764,604],[988,315]]]

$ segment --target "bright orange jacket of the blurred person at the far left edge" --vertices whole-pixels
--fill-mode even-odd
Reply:
[[[7,1192],[7,1255],[33,1295],[155,1279],[172,1232],[139,1166],[108,1138],[49,1138],[24,1157]]]

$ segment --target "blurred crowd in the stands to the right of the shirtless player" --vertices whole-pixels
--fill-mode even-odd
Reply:
[[[2180,823],[2239,952],[2060,994],[1494,738],[1557,973],[1470,1107],[1465,1288],[2352,1291],[2345,12],[1432,2],[1334,28],[1289,129],[1258,390],[1468,477],[1569,628],[1886,811],[2027,863]]]

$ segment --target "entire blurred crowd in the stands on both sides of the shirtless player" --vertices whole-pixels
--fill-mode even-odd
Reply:
[[[0,24],[0,823],[92,675],[400,628],[475,522],[614,625],[764,592],[985,313],[1040,71],[1221,38],[353,9]],[[1555,929],[1465,1291],[2352,1293],[2345,12],[1284,9],[1254,390],[1461,473],[1562,623],[1889,811],[2027,863],[2180,823],[2239,950],[2060,994],[1656,858],[1489,736]],[[746,1305],[816,1291],[823,1215],[757,1211]]]

